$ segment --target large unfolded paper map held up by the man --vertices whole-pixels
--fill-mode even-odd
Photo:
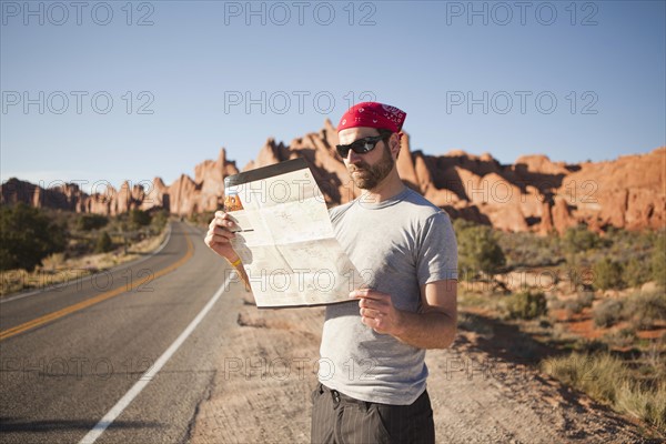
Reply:
[[[230,175],[224,194],[240,228],[232,245],[259,307],[345,302],[363,286],[303,159]]]

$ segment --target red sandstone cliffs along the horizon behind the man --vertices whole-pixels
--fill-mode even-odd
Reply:
[[[326,120],[322,130],[289,145],[269,139],[243,170],[301,157],[310,164],[326,201],[345,203],[360,190],[336,157],[336,143],[337,132]],[[526,155],[515,164],[503,165],[487,153],[452,151],[435,157],[413,152],[408,134],[402,139],[397,159],[404,182],[452,216],[505,231],[539,233],[563,232],[577,223],[593,230],[665,226],[665,167],[666,147],[608,162],[567,164],[545,155]],[[0,202],[102,214],[163,208],[186,215],[215,210],[224,193],[224,178],[238,172],[222,149],[218,160],[195,167],[194,179],[182,174],[169,186],[155,178],[148,190],[141,185],[130,189],[125,182],[120,190],[109,186],[103,193],[88,195],[75,184],[42,189],[12,178],[2,184]]]

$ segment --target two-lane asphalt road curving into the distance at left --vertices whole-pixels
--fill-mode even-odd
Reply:
[[[142,377],[229,275],[202,231],[171,228],[154,255],[0,303],[0,442],[79,443],[140,380],[97,442],[188,441],[242,302],[221,290],[157,374]]]

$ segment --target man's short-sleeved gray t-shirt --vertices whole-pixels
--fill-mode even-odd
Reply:
[[[457,245],[448,215],[405,189],[381,203],[362,198],[330,211],[335,236],[370,289],[393,304],[421,309],[420,286],[457,279]],[[361,322],[359,301],[326,307],[319,380],[357,400],[412,404],[425,390],[425,350]]]

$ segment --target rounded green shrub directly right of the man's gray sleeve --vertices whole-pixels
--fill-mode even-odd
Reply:
[[[458,274],[472,280],[480,272],[498,273],[506,264],[504,252],[493,230],[457,219],[454,229],[458,245]]]

